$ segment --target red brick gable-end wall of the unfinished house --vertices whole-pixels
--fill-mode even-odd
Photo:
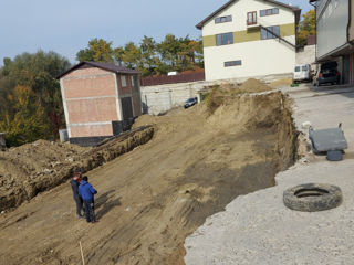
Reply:
[[[69,124],[75,124],[70,126],[71,137],[112,136],[112,124],[105,123],[118,120],[115,74],[96,67],[79,68],[65,75],[62,85]]]

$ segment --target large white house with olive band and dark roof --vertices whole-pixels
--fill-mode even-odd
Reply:
[[[292,73],[301,10],[270,0],[231,0],[202,30],[206,80]]]

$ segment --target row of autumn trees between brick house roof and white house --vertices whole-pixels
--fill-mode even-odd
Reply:
[[[138,44],[128,42],[115,49],[112,42],[93,39],[86,49],[79,51],[76,59],[80,62],[114,62],[139,71],[144,77],[204,67],[202,41],[173,34],[167,34],[160,43],[144,35]]]

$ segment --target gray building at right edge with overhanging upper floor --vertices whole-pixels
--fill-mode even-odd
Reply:
[[[352,0],[310,0],[316,10],[316,61],[336,61],[343,84],[353,84],[354,21]]]

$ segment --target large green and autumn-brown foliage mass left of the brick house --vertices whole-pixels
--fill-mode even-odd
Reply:
[[[66,59],[53,52],[4,59],[0,68],[0,131],[8,132],[9,146],[58,138],[65,120],[55,77],[69,66]]]

